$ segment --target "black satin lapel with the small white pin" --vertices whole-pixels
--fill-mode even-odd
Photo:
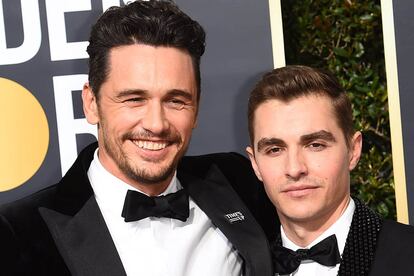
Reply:
[[[204,179],[178,171],[190,197],[229,239],[245,261],[245,275],[271,275],[265,234],[217,166]]]

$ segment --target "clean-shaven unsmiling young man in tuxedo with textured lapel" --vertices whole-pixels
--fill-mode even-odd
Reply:
[[[281,222],[276,275],[413,273],[414,228],[350,196],[362,135],[332,74],[306,66],[268,72],[251,92],[248,120],[247,152]]]

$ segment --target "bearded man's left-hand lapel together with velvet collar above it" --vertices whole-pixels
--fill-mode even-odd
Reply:
[[[87,175],[96,148],[79,154],[39,212],[72,275],[126,275]]]

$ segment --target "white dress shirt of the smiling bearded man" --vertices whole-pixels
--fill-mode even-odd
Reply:
[[[185,222],[155,217],[125,222],[121,216],[125,195],[128,189],[138,190],[109,173],[97,152],[88,177],[127,275],[241,275],[237,251],[191,198]],[[161,195],[180,189],[174,175]]]

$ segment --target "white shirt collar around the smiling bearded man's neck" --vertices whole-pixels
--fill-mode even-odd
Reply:
[[[138,191],[143,194],[145,193],[122,181],[106,170],[99,160],[98,150],[99,149],[96,149],[94,158],[88,170],[88,177],[95,194],[95,199],[98,202],[99,207],[101,209],[103,208],[105,212],[120,216],[124,207],[125,195],[128,190]],[[182,186],[175,173],[167,189],[160,195],[174,193],[180,189],[182,189]]]

